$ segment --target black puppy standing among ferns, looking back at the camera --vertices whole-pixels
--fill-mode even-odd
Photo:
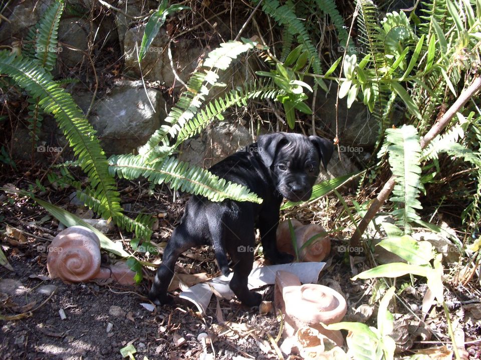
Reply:
[[[190,247],[211,243],[224,275],[230,271],[227,253],[230,255],[234,271],[230,288],[237,298],[245,305],[258,305],[261,295],[247,286],[254,261],[255,226],[261,233],[264,254],[272,263],[292,261],[291,255],[276,247],[282,199],[308,200],[319,166],[327,166],[332,152],[332,143],[322,137],[277,132],[259,136],[257,142],[213,165],[209,169],[212,173],[246,185],[263,202],[212,202],[191,196],[180,225],[165,247],[150,299],[157,304],[170,302],[167,288],[178,256]]]

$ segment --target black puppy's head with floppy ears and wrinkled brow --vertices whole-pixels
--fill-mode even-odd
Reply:
[[[277,190],[291,201],[311,197],[319,166],[327,168],[334,150],[325,138],[287,132],[261,135],[257,143]]]

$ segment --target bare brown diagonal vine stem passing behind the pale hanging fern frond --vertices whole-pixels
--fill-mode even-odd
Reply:
[[[421,139],[421,149],[425,148],[431,140],[437,136],[444,127],[446,127],[451,119],[454,117],[457,111],[464,106],[464,104],[479,90],[481,89],[481,77],[475,77],[471,84],[459,95],[457,100],[447,109],[447,111],[441,116],[439,120],[431,127],[431,129],[422,137]],[[394,188],[396,183],[396,177],[392,175],[389,180],[384,184],[383,188],[369,206],[364,217],[361,219],[356,227],[356,231],[351,236],[349,240],[349,245],[351,247],[359,246],[361,235],[367,228],[367,225],[374,218],[376,213],[379,211],[382,204],[387,200],[389,194]]]

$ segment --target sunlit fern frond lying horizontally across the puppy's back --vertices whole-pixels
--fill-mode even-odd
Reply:
[[[139,155],[113,156],[110,159],[110,170],[127,179],[143,176],[153,183],[166,182],[174,190],[202,195],[211,201],[231,198],[237,201],[262,202],[262,199],[247,187],[227,182],[208,170],[190,166],[174,157],[166,157],[163,161],[146,165]]]

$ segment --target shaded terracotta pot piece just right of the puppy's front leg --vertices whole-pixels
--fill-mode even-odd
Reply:
[[[322,261],[329,255],[331,252],[331,239],[327,236],[327,231],[321,225],[303,225],[296,219],[291,219],[291,223],[299,249],[313,236],[317,236],[310,245],[307,245],[299,252],[300,261]],[[289,220],[285,220],[279,224],[276,231],[276,238],[279,251],[296,255],[292,244],[291,231],[289,230]]]

